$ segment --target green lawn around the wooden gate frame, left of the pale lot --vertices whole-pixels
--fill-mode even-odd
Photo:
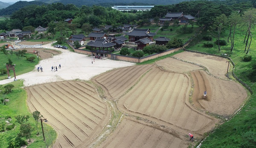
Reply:
[[[17,57],[15,54],[3,54],[3,52],[0,52],[0,69],[6,69],[6,63],[8,62],[8,59],[10,58],[12,60],[12,64],[16,64],[15,66],[15,74],[16,75],[21,75],[23,73],[28,73],[30,71],[32,71],[33,69],[35,69],[35,65],[38,64],[38,59],[37,59],[37,55],[35,54],[29,54],[26,53],[25,54],[27,57],[35,57],[34,62],[31,61],[27,61],[26,57]],[[14,74],[13,71],[10,70],[10,75],[13,78]],[[8,78],[8,74],[3,74],[0,75],[0,80],[6,79]]]

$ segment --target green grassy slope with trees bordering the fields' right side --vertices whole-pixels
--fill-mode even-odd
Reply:
[[[245,31],[242,31],[245,30]],[[252,29],[252,32],[256,31],[256,27]],[[227,54],[235,63],[234,73],[242,81],[244,81],[253,90],[253,94],[247,100],[241,111],[233,117],[229,122],[219,126],[215,132],[211,133],[207,139],[204,140],[201,148],[255,148],[256,147],[256,55],[254,50],[256,44],[253,41],[249,52],[252,55],[252,61],[244,62],[241,58],[245,55],[244,47],[244,35],[246,29],[236,30],[235,35],[235,49],[230,52],[230,43],[226,46],[221,46],[221,51],[218,51],[218,46],[215,45],[212,48],[203,47],[203,42],[200,41],[195,46],[189,47],[189,50],[195,50],[200,52],[207,52],[216,55]],[[221,39],[227,41],[229,30],[223,32]],[[203,32],[203,35],[209,34],[209,32]],[[213,39],[213,41],[215,41]],[[253,38],[255,40],[255,38]],[[197,40],[194,40],[197,41]],[[224,63],[225,67],[227,64]],[[230,73],[230,75],[232,75]],[[226,92],[228,93],[228,92]],[[248,93],[249,94],[249,93]],[[234,100],[235,101],[235,100]]]

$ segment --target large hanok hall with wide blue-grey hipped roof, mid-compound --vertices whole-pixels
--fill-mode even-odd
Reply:
[[[149,29],[134,28],[132,32],[125,33],[125,35],[129,36],[129,42],[135,42],[142,38],[148,38],[149,40],[153,41],[153,37],[156,35],[156,33],[150,32]]]

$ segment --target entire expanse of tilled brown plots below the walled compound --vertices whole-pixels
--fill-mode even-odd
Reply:
[[[220,123],[210,115],[232,116],[247,91],[235,81],[220,79],[227,79],[224,58],[192,52],[175,57],[201,64],[219,78],[194,64],[166,58],[155,65],[119,68],[92,79],[104,90],[103,97],[114,100],[123,113],[113,132],[102,128],[110,124],[109,108],[116,107],[103,102],[87,83],[64,81],[28,87],[28,106],[47,116],[60,133],[54,145],[59,148],[195,146],[188,133],[195,140],[203,139],[204,133]],[[202,99],[204,90],[207,99]],[[102,142],[100,137],[106,131],[109,133]]]

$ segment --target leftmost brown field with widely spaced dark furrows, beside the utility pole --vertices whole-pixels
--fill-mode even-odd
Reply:
[[[109,119],[108,105],[95,87],[78,81],[64,81],[26,88],[31,112],[38,110],[58,132],[55,148],[86,145]]]

